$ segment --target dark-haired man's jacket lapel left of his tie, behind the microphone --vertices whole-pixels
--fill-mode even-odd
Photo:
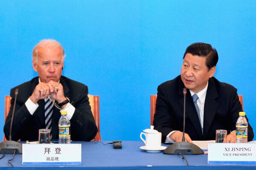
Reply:
[[[183,88],[185,87],[183,82],[180,79],[180,85],[179,85],[179,89],[178,89],[178,93],[180,94],[180,96],[182,96],[179,100],[180,105],[182,107],[182,109],[184,109],[184,96],[183,96]],[[189,89],[187,89],[187,94],[186,94],[186,116],[191,120],[192,125],[195,127],[195,131],[196,133],[198,133],[198,136],[200,136],[200,138],[203,138],[202,135],[202,129],[201,129],[201,125],[200,125],[200,120],[198,118],[198,114],[197,111],[195,109],[195,105],[194,102],[192,100],[192,96],[190,94]],[[182,113],[183,114],[183,113]],[[185,122],[186,124],[186,122]],[[185,129],[186,131],[186,129]]]

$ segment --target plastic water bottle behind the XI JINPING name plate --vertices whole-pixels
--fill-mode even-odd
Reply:
[[[236,143],[247,143],[248,122],[245,118],[245,112],[239,112],[239,118],[236,121]]]

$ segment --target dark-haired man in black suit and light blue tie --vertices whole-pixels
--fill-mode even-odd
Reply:
[[[213,77],[217,62],[218,53],[210,44],[189,45],[183,56],[180,76],[158,86],[153,124],[162,133],[162,141],[182,141],[183,88],[186,87],[189,90],[185,141],[215,140],[215,130],[225,129],[227,142],[236,142],[236,121],[242,107],[237,89]],[[253,129],[248,124],[248,141],[252,139]]]

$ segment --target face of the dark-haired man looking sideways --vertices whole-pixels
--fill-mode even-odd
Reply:
[[[206,57],[187,53],[183,60],[180,77],[185,87],[194,93],[203,90],[210,77],[215,73],[215,66],[208,70]]]

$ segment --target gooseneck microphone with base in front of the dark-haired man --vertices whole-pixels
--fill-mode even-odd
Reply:
[[[186,109],[186,88],[183,88],[183,96],[184,96],[184,110],[183,110],[183,137],[182,142],[177,142],[171,144],[167,147],[163,153],[164,154],[172,154],[172,155],[198,155],[204,154],[203,150],[195,144],[185,142],[185,109]]]

